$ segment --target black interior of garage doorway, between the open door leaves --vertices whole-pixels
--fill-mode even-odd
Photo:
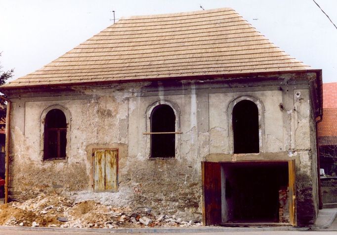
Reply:
[[[223,171],[224,222],[279,222],[279,190],[288,186],[287,163],[227,164]]]

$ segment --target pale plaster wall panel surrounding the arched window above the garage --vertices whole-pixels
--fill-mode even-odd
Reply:
[[[256,102],[259,109],[260,152],[284,151],[283,114],[278,106],[282,102],[281,91],[214,93],[209,99],[210,153],[233,153],[231,111],[236,102],[245,99]],[[265,136],[271,141],[266,141]],[[214,145],[224,139],[224,145]]]

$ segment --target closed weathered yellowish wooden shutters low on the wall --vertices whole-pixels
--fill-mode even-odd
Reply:
[[[118,191],[118,149],[93,149],[93,190]]]

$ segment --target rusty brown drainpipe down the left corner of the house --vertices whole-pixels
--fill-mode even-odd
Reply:
[[[9,177],[9,139],[10,139],[10,107],[11,101],[0,96],[0,99],[7,101],[6,110],[6,140],[5,140],[5,184],[4,184],[4,203],[8,202],[8,177]]]

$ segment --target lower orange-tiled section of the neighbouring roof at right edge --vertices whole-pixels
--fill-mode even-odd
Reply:
[[[320,145],[337,144],[337,108],[325,108],[323,110],[323,120],[318,123],[317,134]]]

